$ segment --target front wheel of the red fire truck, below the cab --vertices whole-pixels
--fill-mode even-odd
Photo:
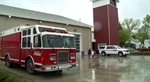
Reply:
[[[33,61],[31,59],[27,60],[26,69],[29,74],[32,74],[32,75],[35,74],[36,71],[34,70]]]

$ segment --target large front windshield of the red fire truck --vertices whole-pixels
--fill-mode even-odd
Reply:
[[[43,47],[75,48],[74,37],[61,35],[43,35]]]

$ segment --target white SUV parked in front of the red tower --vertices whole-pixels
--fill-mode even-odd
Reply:
[[[121,48],[117,45],[101,45],[98,47],[99,53],[102,56],[118,54],[118,56],[127,56],[130,54],[130,51],[125,48]]]

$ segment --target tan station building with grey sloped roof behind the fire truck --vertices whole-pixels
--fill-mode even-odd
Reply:
[[[77,52],[92,46],[92,26],[63,16],[0,5],[0,32],[20,25],[46,25],[66,28],[76,38]]]

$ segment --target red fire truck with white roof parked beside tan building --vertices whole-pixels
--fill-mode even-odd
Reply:
[[[19,64],[29,74],[59,71],[78,66],[75,38],[64,28],[33,25],[1,32],[0,60],[7,67]]]

